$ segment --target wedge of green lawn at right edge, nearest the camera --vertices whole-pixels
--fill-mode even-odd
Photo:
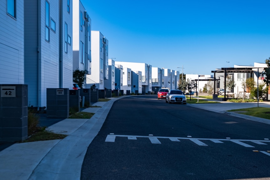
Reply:
[[[270,119],[270,116],[269,116],[270,115],[270,108],[268,108],[268,107],[252,107],[252,108],[245,108],[245,109],[234,109],[234,110],[230,110],[230,111],[236,112],[239,114],[248,115],[248,116]],[[241,111],[241,112],[237,112],[237,111]]]

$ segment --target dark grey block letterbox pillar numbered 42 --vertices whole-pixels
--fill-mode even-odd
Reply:
[[[28,138],[28,86],[0,85],[0,141]]]

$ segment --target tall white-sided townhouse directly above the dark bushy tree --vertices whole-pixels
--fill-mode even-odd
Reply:
[[[73,71],[86,70],[91,74],[91,19],[80,0],[73,0],[72,7]]]

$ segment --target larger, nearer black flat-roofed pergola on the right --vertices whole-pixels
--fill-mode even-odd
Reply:
[[[211,71],[211,73],[214,73],[214,95],[215,95],[215,73],[224,73],[224,78],[226,79],[227,73],[251,73],[253,74],[253,70],[257,67],[245,67],[245,68],[221,68],[217,69],[215,71]],[[224,99],[226,100],[226,80],[224,81]]]

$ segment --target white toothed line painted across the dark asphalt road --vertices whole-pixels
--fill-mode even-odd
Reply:
[[[267,145],[266,142],[270,142],[270,140],[247,140],[247,139],[210,139],[210,138],[192,138],[192,137],[165,137],[165,136],[130,136],[130,135],[114,135],[114,134],[109,134],[107,135],[105,142],[115,142],[115,138],[116,137],[127,137],[128,140],[137,140],[138,137],[145,137],[145,138],[149,138],[149,140],[151,141],[151,143],[153,144],[161,144],[161,142],[158,139],[169,139],[171,141],[175,141],[175,142],[180,142],[181,139],[186,139],[186,140],[190,140],[196,144],[198,144],[199,146],[208,146],[207,144],[203,143],[200,140],[209,140],[215,143],[224,143],[222,141],[231,141],[234,142],[236,144],[239,144],[241,146],[244,147],[254,147],[251,146],[249,144],[246,144],[244,142],[254,142],[256,144],[259,145]],[[268,153],[268,152],[265,152]],[[268,153],[270,154],[270,153]],[[267,154],[267,155],[268,155]]]

